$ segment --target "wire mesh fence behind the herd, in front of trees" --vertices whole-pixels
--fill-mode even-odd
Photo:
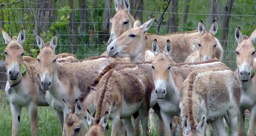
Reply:
[[[119,0],[119,3],[123,5],[122,1]],[[219,27],[215,37],[226,45],[223,62],[235,70],[234,51],[237,42],[234,32],[237,26],[246,35],[256,29],[256,1],[232,1],[130,0],[130,12],[134,17],[139,17],[141,23],[156,17],[157,21],[147,32],[156,33],[157,26],[160,26],[159,34],[195,30],[200,20],[204,21],[209,30],[211,19],[216,19]],[[231,12],[227,10],[230,6],[228,2],[232,3]],[[20,29],[25,28],[23,48],[25,54],[31,57],[36,57],[39,52],[36,34],[41,34],[46,42],[55,33],[58,36],[56,54],[66,52],[83,59],[102,54],[106,50],[109,20],[115,13],[114,0],[0,0],[0,27],[11,37],[17,36]],[[224,18],[227,16],[228,28],[224,26]],[[221,40],[221,33],[225,29],[228,30],[227,39]],[[2,60],[5,59],[5,48],[6,43],[0,38]]]

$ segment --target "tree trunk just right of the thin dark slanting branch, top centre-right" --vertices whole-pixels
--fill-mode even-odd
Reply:
[[[178,0],[172,0],[170,5],[169,19],[169,33],[177,32],[178,25],[179,25],[179,16],[178,16]]]

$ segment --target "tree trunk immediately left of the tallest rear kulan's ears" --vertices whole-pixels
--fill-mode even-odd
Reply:
[[[111,1],[110,0],[105,0],[104,8],[105,9],[103,13],[102,31],[109,32],[110,30],[109,20],[111,18],[111,14],[110,14]]]

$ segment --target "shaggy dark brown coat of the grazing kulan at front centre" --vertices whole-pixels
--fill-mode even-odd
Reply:
[[[146,71],[146,73],[144,71]],[[99,122],[100,115],[104,116],[105,112],[108,111],[108,108],[105,106],[106,103],[108,103],[108,105],[115,105],[113,104],[113,101],[116,101],[116,98],[113,98],[113,96],[111,95],[113,85],[116,85],[117,88],[120,89],[119,91],[122,92],[121,94],[124,95],[123,97],[128,104],[132,104],[134,102],[141,102],[143,99],[145,99],[145,97],[150,96],[151,91],[154,88],[152,80],[153,78],[150,71],[150,64],[143,63],[140,63],[138,65],[128,64],[117,68],[113,68],[110,71],[108,71],[108,73],[102,77],[102,79],[99,81],[99,84],[97,85],[98,87],[103,86],[103,89],[100,88],[99,90],[100,94],[98,98],[99,101],[97,102],[96,120],[98,119]],[[142,77],[142,75],[145,77]],[[142,80],[144,87],[138,81],[138,78]],[[145,91],[146,96],[144,95]]]

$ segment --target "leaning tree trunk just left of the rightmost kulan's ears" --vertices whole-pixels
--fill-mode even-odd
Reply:
[[[222,31],[221,31],[221,45],[226,49],[227,46],[227,38],[228,38],[228,25],[229,25],[229,18],[230,18],[230,13],[232,10],[234,0],[227,0],[226,4],[224,6],[224,13],[222,15]]]

